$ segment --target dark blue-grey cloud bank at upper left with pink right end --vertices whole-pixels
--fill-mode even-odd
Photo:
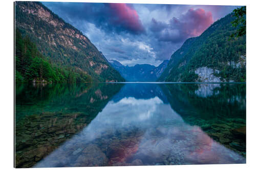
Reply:
[[[137,11],[126,4],[101,3],[52,3],[45,2],[53,11],[64,14],[66,18],[86,20],[104,31],[145,33]]]

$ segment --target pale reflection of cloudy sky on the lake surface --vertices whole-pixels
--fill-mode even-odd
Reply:
[[[35,167],[245,163],[157,96],[114,101]]]

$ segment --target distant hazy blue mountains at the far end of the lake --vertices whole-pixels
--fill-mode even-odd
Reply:
[[[164,60],[157,67],[150,64],[124,66],[116,60],[110,60],[109,62],[120,72],[121,76],[129,82],[155,82],[168,64],[168,60]]]

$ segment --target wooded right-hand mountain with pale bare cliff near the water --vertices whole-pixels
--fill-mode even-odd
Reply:
[[[245,82],[246,36],[230,39],[233,13],[214,22],[200,36],[187,39],[158,81]]]

